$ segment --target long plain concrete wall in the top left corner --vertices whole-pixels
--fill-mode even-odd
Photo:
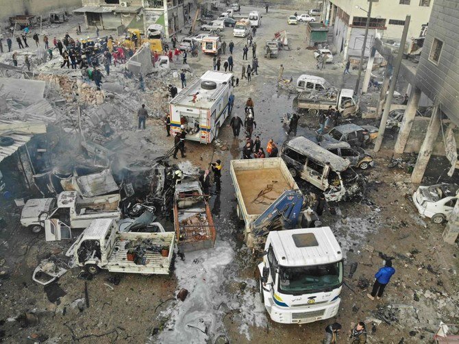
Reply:
[[[82,6],[82,0],[0,0],[0,23],[6,23],[10,16],[34,14],[48,17],[49,11],[71,11]]]

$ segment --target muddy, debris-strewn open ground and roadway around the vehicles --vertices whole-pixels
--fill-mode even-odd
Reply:
[[[243,7],[241,11],[249,12],[249,8]],[[269,14],[263,14],[263,24],[255,40],[260,51],[264,40],[280,29],[287,29],[293,50],[281,51],[277,60],[259,56],[260,75],[253,76],[251,82],[240,80],[235,90],[234,111],[238,114],[243,114],[247,97],[255,101],[258,126],[254,134],[260,136],[263,147],[269,138],[278,144],[284,142],[282,115],[292,111],[291,95],[275,86],[280,64],[285,67],[284,77],[293,79],[309,72],[348,88],[356,80],[356,71],[343,75],[338,57],[337,64],[317,71],[312,51],[300,49],[297,54],[296,47],[304,47],[305,26],[288,27],[286,18],[290,12],[270,10]],[[227,42],[233,39],[229,29],[225,29],[225,38]],[[233,40],[234,73],[238,75],[245,40]],[[195,75],[212,66],[209,56],[200,55],[188,61]],[[356,121],[360,123],[362,119]],[[317,127],[317,118],[303,114],[298,135]],[[162,149],[173,145],[172,138],[166,138],[162,121],[157,119],[147,121],[144,132],[136,131],[134,121],[126,130],[140,143],[151,141]],[[459,322],[457,246],[443,243],[444,225],[421,219],[415,211],[410,195],[417,186],[410,183],[410,175],[387,169],[393,140],[384,142],[384,149],[375,155],[375,167],[363,173],[368,179],[364,197],[341,202],[336,205],[337,214],[325,212],[322,219],[323,225],[329,225],[336,234],[346,256],[346,286],[336,319],[305,325],[270,321],[260,303],[256,284],[259,258],[243,244],[244,227],[236,216],[234,187],[229,176],[229,160],[240,158],[242,138],[242,134],[233,138],[232,131],[225,127],[219,140],[228,150],[214,144],[187,143],[187,158],[178,160],[194,171],[206,168],[212,157],[220,158],[222,192],[210,199],[214,222],[219,226],[214,249],[185,254],[184,260],[177,258],[175,272],[170,276],[122,275],[119,284],[114,284],[110,273],[101,272],[92,280],[83,280],[78,278],[80,270],[72,269],[57,283],[45,288],[39,286],[31,279],[38,262],[51,254],[64,259],[63,253],[70,243],[47,243],[43,235],[27,232],[18,221],[20,210],[3,205],[1,216],[5,221],[0,232],[3,341],[25,343],[30,337],[35,341],[47,338],[47,343],[321,343],[325,326],[338,321],[344,328],[340,343],[345,343],[351,323],[381,319],[384,315],[391,320],[376,321],[374,327],[370,319],[369,343],[400,343],[401,339],[402,343],[429,343],[440,321]],[[445,169],[443,158],[432,158],[426,184],[433,184],[438,178],[451,182]],[[317,192],[305,183],[299,184],[303,191]],[[164,224],[172,229],[171,223]],[[382,266],[380,252],[394,257],[397,273],[384,297],[371,302],[365,295],[371,288],[373,274]],[[356,272],[349,277],[349,267],[355,262]],[[190,293],[185,302],[175,299],[180,288]],[[20,321],[13,321],[25,312],[34,312],[38,323],[32,321],[25,327]]]

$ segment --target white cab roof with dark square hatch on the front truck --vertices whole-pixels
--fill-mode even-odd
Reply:
[[[269,232],[279,265],[304,267],[343,259],[340,245],[330,227],[276,230]]]

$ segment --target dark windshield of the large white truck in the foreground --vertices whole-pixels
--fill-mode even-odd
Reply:
[[[305,293],[337,288],[343,282],[343,262],[311,267],[280,267],[279,291]]]

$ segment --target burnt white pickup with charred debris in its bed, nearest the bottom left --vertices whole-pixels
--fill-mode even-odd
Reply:
[[[97,219],[66,252],[71,267],[110,272],[169,275],[175,233],[122,233],[114,219]]]

